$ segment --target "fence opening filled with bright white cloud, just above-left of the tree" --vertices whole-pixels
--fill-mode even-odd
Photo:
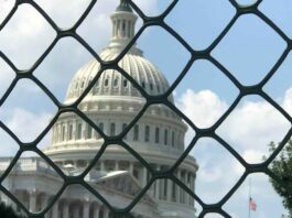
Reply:
[[[268,144],[281,142],[290,129],[291,123],[269,102],[249,96],[241,99],[217,133],[247,162],[261,163],[262,156],[270,153]]]

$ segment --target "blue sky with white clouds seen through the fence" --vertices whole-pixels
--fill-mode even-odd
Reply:
[[[9,11],[11,2],[0,0],[0,22]],[[86,8],[88,1],[37,1],[62,28],[71,26]],[[160,14],[171,1],[150,0],[137,2],[147,14]],[[241,0],[240,3],[251,1]],[[110,35],[109,13],[117,1],[98,1],[88,19],[77,32],[97,51],[107,44]],[[1,7],[3,13],[1,13]],[[292,2],[289,0],[263,0],[259,8],[289,36],[292,36]],[[62,11],[63,10],[63,11]],[[64,13],[64,10],[65,13]],[[206,48],[235,14],[227,0],[182,0],[166,17],[172,26],[195,50]],[[69,13],[71,17],[65,14]],[[141,20],[138,21],[138,28]],[[55,37],[54,31],[31,7],[21,6],[8,26],[0,33],[0,51],[3,51],[20,68],[30,67]],[[9,42],[9,43],[8,43]],[[175,39],[159,26],[147,29],[138,40],[144,56],[152,61],[170,83],[173,83],[188,62],[191,55]],[[285,48],[285,42],[262,20],[255,15],[238,19],[230,32],[212,51],[244,85],[259,83]],[[47,58],[34,73],[62,101],[74,73],[91,55],[72,39],[61,40]],[[288,55],[282,66],[263,90],[285,111],[292,115],[292,59]],[[13,78],[13,73],[0,59],[0,96]],[[210,62],[196,61],[174,92],[179,108],[202,128],[210,127],[232,103],[239,90]],[[56,108],[31,81],[20,80],[8,101],[1,107],[0,119],[22,140],[33,140],[52,118]],[[20,119],[21,118],[21,119]],[[269,119],[267,119],[269,118]],[[28,123],[30,123],[28,126]],[[262,98],[244,98],[236,110],[216,131],[229,142],[249,163],[259,163],[267,155],[270,141],[281,141],[291,128],[279,112]],[[25,129],[25,131],[24,131]],[[0,133],[3,135],[3,132]],[[186,141],[192,139],[187,133]],[[44,143],[48,143],[50,135]],[[7,144],[9,138],[1,138]],[[242,166],[220,145],[210,139],[202,139],[191,152],[197,160],[196,192],[206,203],[216,203],[230,185],[242,174]],[[9,151],[9,152],[8,152]],[[13,149],[1,150],[12,154]],[[228,160],[228,161],[223,161]],[[231,164],[230,164],[231,163]],[[252,217],[280,217],[284,212],[281,199],[273,192],[269,179],[259,174],[251,175],[252,197],[258,209]],[[264,194],[263,194],[264,193]],[[232,217],[247,217],[247,181],[224,206]],[[210,215],[209,217],[216,217]]]

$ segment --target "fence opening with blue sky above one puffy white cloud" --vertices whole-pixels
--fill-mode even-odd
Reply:
[[[206,59],[194,62],[174,91],[177,108],[198,128],[214,126],[239,92],[234,84]]]

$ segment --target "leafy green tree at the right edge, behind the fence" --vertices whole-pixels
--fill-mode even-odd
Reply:
[[[269,144],[270,151],[273,152],[277,148],[274,142]],[[292,218],[292,140],[285,144],[280,154],[271,162],[269,168],[283,182],[284,188],[274,179],[271,184],[275,192],[282,197],[283,206],[289,211],[289,218]]]

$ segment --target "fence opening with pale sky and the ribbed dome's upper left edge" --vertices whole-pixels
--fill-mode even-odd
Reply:
[[[57,97],[58,101],[62,102],[65,99],[65,103],[73,103],[74,101],[68,99],[74,96],[76,100],[89,85],[89,78],[86,80],[80,78],[84,75],[74,74],[78,69],[83,73],[86,68],[97,73],[98,68],[91,69],[88,64],[85,64],[93,58],[93,55],[75,39],[61,39],[34,70],[34,76]],[[98,64],[97,61],[95,63]]]

